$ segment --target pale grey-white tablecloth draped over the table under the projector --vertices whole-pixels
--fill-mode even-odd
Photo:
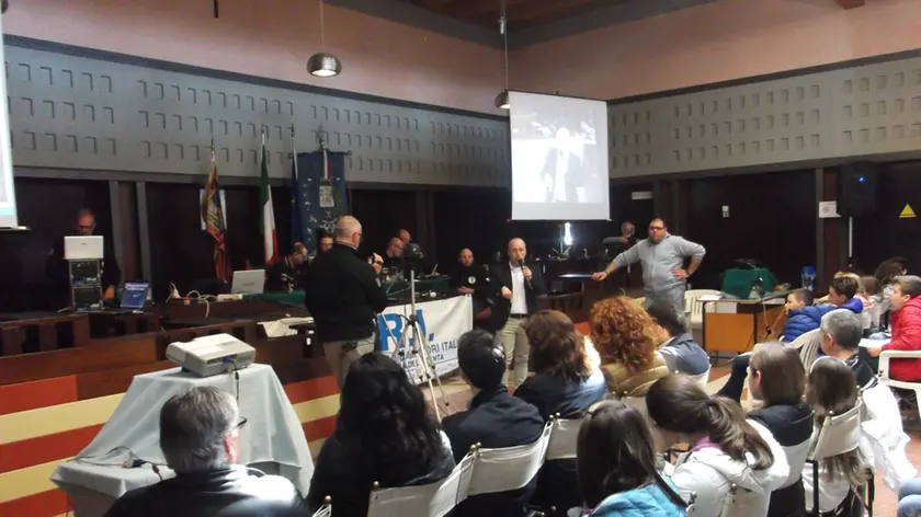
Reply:
[[[180,368],[136,376],[115,412],[93,441],[52,475],[73,501],[78,517],[102,515],[124,493],[159,481],[150,464],[124,468],[140,459],[163,464],[160,450],[160,409],[177,393],[212,386],[237,397],[240,416],[239,462],[291,480],[306,494],[314,473],[310,449],[297,414],[272,367],[250,365],[232,372],[196,377]],[[160,467],[163,479],[174,474]]]

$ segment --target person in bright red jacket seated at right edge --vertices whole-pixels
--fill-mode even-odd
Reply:
[[[867,352],[879,357],[884,351],[921,351],[921,277],[897,276],[889,297],[892,309],[892,340]],[[921,381],[921,359],[892,359],[889,377],[906,382]]]

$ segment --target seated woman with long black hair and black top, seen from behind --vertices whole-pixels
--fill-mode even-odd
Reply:
[[[333,517],[365,517],[375,482],[382,489],[422,485],[454,469],[447,437],[422,392],[380,354],[352,363],[340,395],[336,430],[320,448],[307,504],[332,497]]]

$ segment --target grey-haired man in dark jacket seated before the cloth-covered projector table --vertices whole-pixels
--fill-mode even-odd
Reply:
[[[105,516],[294,515],[302,501],[288,480],[235,464],[246,422],[217,388],[173,395],[160,410],[160,448],[175,478],[126,493]]]

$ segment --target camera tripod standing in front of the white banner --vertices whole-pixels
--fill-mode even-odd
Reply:
[[[420,381],[429,384],[429,393],[432,394],[432,406],[435,409],[435,417],[441,422],[442,416],[439,411],[439,401],[435,397],[435,387],[432,383],[433,379],[439,384],[439,392],[441,393],[445,407],[448,406],[448,402],[444,393],[444,386],[442,386],[441,378],[435,369],[435,359],[432,357],[429,336],[422,332],[422,328],[419,324],[419,317],[416,313],[416,271],[413,269],[410,269],[409,273],[409,303],[410,315],[402,315],[402,319],[406,320],[406,328],[399,340],[394,335],[390,325],[386,323],[384,325],[387,329],[387,334],[390,336],[389,338],[394,341],[391,358],[406,369],[410,356],[416,357],[416,376],[419,377]],[[409,355],[407,355],[407,351]]]

